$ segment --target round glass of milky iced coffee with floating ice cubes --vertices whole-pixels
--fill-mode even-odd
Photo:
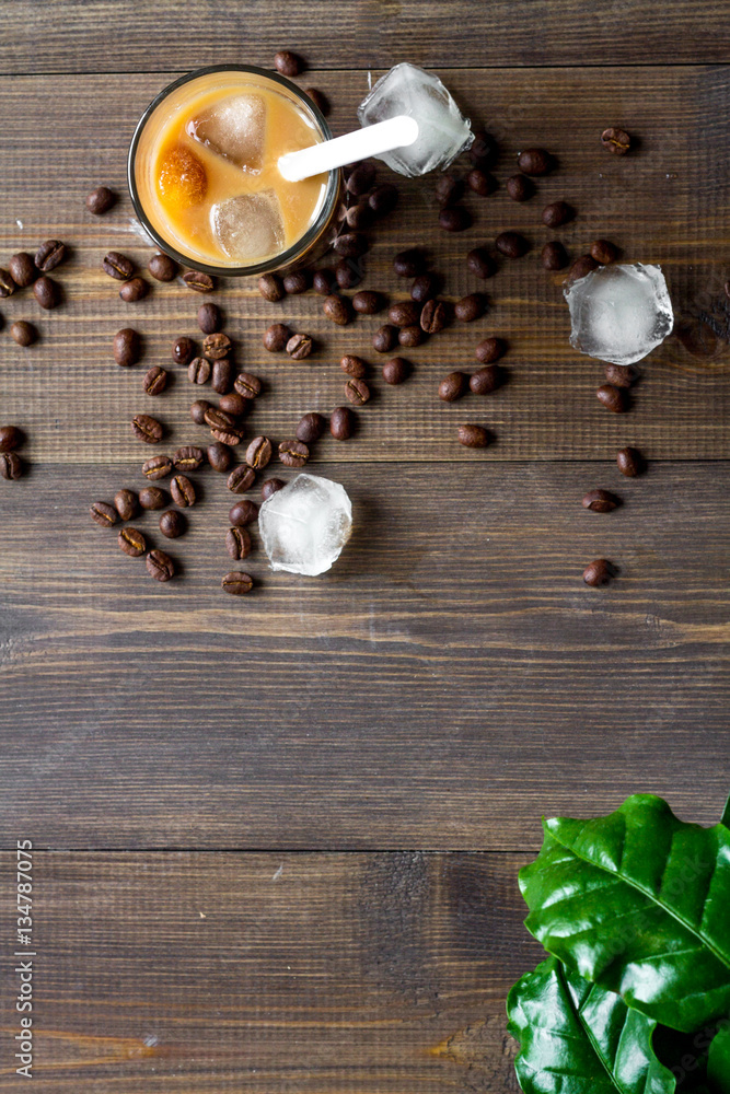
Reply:
[[[129,148],[129,191],[158,246],[207,274],[286,269],[334,237],[340,173],[287,182],[286,152],[332,137],[314,103],[278,73],[198,69],[165,88]]]

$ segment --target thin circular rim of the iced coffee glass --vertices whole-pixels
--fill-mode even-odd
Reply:
[[[165,98],[177,88],[182,88],[184,84],[190,83],[190,81],[197,80],[199,77],[208,75],[211,72],[251,72],[254,75],[264,77],[273,83],[280,84],[282,88],[286,88],[287,91],[292,92],[302,105],[311,113],[324,139],[332,140],[332,130],[329,129],[322,110],[320,110],[316,103],[309,97],[306,92],[302,91],[301,88],[298,88],[291,80],[280,75],[278,72],[274,72],[270,69],[259,68],[256,65],[208,65],[204,68],[194,69],[192,72],[187,72],[185,75],[178,77],[177,80],[173,80],[172,83],[169,83],[154,96],[150,105],[143,112],[139,121],[135,126],[135,132],[129,143],[129,152],[127,154],[127,186],[129,187],[129,196],[131,198],[131,203],[135,213],[137,214],[137,219],[150,238],[162,252],[164,252],[164,254],[174,258],[182,266],[188,266],[201,274],[210,274],[216,277],[255,277],[256,275],[268,274],[271,270],[278,270],[282,267],[291,265],[296,261],[300,254],[305,252],[310,245],[316,241],[323,225],[329,220],[337,201],[337,195],[339,191],[339,168],[327,173],[327,189],[325,191],[324,201],[322,202],[322,208],[320,209],[314,223],[311,224],[306,232],[292,243],[287,251],[282,251],[281,254],[275,255],[273,258],[267,258],[265,261],[255,263],[252,266],[211,266],[208,263],[198,261],[190,255],[184,255],[182,252],[177,251],[176,247],[160,235],[157,229],[154,229],[150,223],[149,217],[144,212],[144,208],[139,197],[139,191],[137,189],[137,181],[135,178],[137,148],[142,132],[144,131],[144,127],[158,106],[163,103]]]

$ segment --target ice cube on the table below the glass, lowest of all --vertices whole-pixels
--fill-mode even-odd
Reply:
[[[258,531],[273,570],[324,573],[350,537],[352,505],[345,488],[318,475],[298,475],[258,511]]]

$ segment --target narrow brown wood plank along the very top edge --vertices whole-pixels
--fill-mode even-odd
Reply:
[[[717,0],[54,0],[5,5],[2,72],[161,71],[237,62],[270,66],[277,49],[350,69],[416,65],[645,65],[726,61]]]

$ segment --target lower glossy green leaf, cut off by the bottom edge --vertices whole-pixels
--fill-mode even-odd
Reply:
[[[651,1045],[656,1023],[548,957],[514,985],[508,1029],[525,1094],[673,1094]]]

